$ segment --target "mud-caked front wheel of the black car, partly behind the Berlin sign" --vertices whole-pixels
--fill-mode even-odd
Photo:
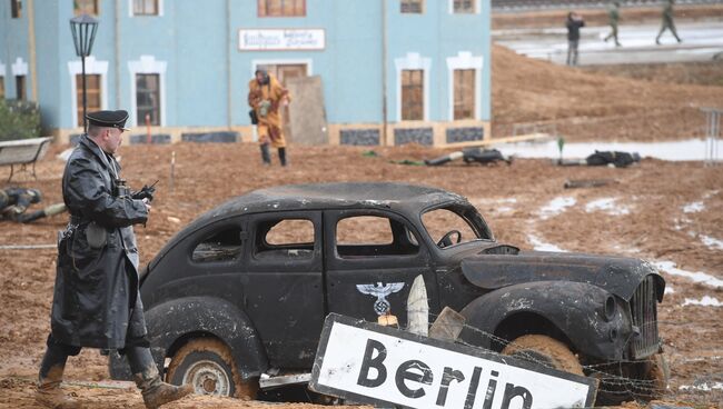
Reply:
[[[547,336],[529,335],[516,338],[502,350],[502,353],[584,376],[580,360],[570,348]]]

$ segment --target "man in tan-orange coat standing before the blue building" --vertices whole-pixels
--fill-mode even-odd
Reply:
[[[278,149],[279,161],[286,166],[286,138],[279,108],[290,101],[289,92],[265,70],[256,70],[256,78],[248,83],[248,104],[258,119],[258,140],[264,164],[271,164],[269,144]]]

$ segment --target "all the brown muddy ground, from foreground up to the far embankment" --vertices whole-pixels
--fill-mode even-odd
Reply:
[[[568,140],[652,141],[683,139],[704,122],[701,106],[723,103],[713,70],[670,69],[660,83],[647,74],[611,77],[532,61],[511,51],[493,52],[493,114],[497,136],[513,123],[562,121]],[[695,73],[704,71],[706,73]],[[667,71],[666,71],[667,72]],[[694,84],[691,84],[694,82]],[[574,87],[571,84],[575,84]],[[664,98],[674,96],[675,98]],[[723,107],[722,107],[723,108]],[[566,121],[566,122],[565,122]],[[567,124],[565,124],[567,123]],[[611,127],[614,123],[614,127]],[[39,188],[43,203],[61,200],[62,161],[55,146],[38,163],[38,180],[27,174],[13,184]],[[425,168],[393,160],[432,158],[445,151],[406,146],[377,148],[377,156],[353,147],[289,148],[290,167],[260,164],[251,143],[125,146],[120,156],[129,183],[160,179],[150,221],[136,229],[141,262],[147,262],[182,226],[226,199],[252,189],[319,181],[404,181],[466,196],[486,217],[497,239],[523,249],[556,246],[567,251],[624,255],[672,262],[681,270],[717,278],[707,283],[663,272],[668,283],[660,307],[660,329],[672,368],[665,401],[701,408],[723,406],[723,310],[691,305],[704,297],[723,301],[723,166],[644,159],[628,169],[559,168],[548,160],[515,160],[512,166],[450,163]],[[171,189],[170,159],[176,153]],[[9,174],[0,169],[0,179]],[[567,180],[604,179],[606,186],[564,189]],[[6,187],[8,183],[0,183]],[[568,203],[551,207],[551,203]],[[572,205],[571,205],[572,203]],[[65,216],[22,226],[0,222],[0,246],[52,245]],[[0,249],[0,407],[34,408],[32,385],[49,330],[56,268],[52,247]],[[689,301],[686,301],[689,300]],[[95,350],[71,358],[67,389],[88,407],[141,408],[130,389],[89,388],[76,382],[108,379],[106,359]],[[707,389],[707,390],[706,390]],[[256,408],[263,402],[192,397],[169,408]],[[635,407],[635,405],[627,405]],[[281,408],[310,407],[284,405]]]

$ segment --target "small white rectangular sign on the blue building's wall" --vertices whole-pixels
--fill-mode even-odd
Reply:
[[[324,29],[240,29],[241,51],[324,50]]]

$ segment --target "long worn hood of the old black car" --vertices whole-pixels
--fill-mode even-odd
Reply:
[[[640,259],[584,253],[521,251],[517,255],[475,255],[462,260],[473,285],[494,290],[533,281],[575,281],[604,288],[630,301],[640,282],[655,276],[658,301],[665,281],[655,267]]]

